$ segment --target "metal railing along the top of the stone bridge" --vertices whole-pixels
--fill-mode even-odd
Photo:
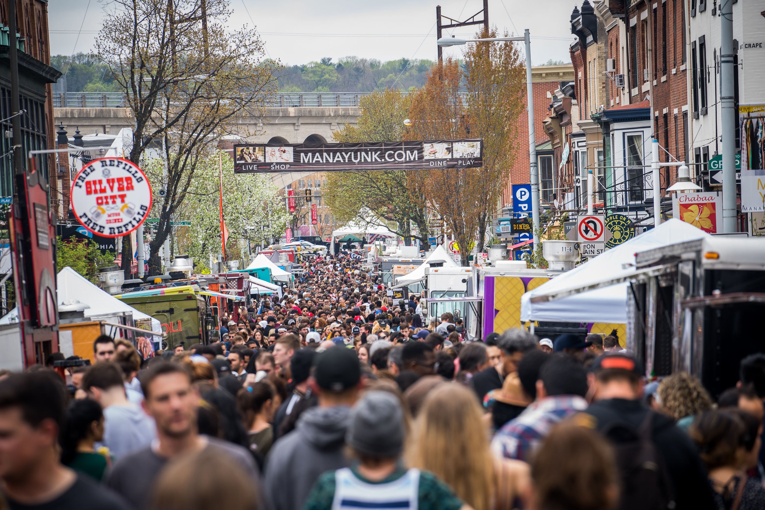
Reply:
[[[403,91],[409,93],[409,91]],[[368,92],[352,93],[280,93],[266,99],[267,108],[359,106]],[[461,94],[464,96],[464,93]],[[67,92],[54,93],[54,108],[125,108],[127,102],[121,92]]]

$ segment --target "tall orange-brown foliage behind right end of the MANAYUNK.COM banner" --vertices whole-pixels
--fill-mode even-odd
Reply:
[[[478,37],[496,37],[496,30]],[[454,234],[462,265],[467,265],[473,247],[482,249],[486,243],[487,226],[501,206],[515,158],[512,142],[522,122],[525,81],[524,62],[512,42],[471,44],[464,58],[464,72],[457,61],[447,59],[428,73],[425,86],[412,97],[407,135],[414,140],[483,140],[483,167],[422,171],[411,177]]]

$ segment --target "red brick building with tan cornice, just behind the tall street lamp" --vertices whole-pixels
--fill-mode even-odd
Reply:
[[[570,63],[562,66],[537,66],[532,67],[532,91],[534,95],[534,133],[537,144],[537,161],[539,164],[539,151],[545,154],[545,147],[540,145],[549,145],[545,141],[545,130],[542,125],[545,118],[549,115],[550,99],[552,93],[561,87],[562,82],[568,82],[574,79],[574,68]],[[526,87],[523,87],[523,104],[526,104]],[[509,206],[513,203],[513,184],[529,184],[529,122],[527,122],[526,112],[522,113],[522,118],[518,122],[518,134],[516,137],[516,158],[512,167],[509,169],[509,180],[503,193],[503,206]],[[549,151],[547,151],[549,153]]]

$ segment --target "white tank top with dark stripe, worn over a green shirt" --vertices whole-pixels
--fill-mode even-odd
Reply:
[[[409,508],[417,510],[420,470],[409,469],[401,478],[388,483],[367,483],[356,478],[350,468],[335,472],[333,510],[364,508]]]

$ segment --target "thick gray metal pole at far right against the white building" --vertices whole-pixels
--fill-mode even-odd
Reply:
[[[736,104],[734,90],[733,0],[720,3],[720,109],[722,113],[722,228],[737,232]]]

